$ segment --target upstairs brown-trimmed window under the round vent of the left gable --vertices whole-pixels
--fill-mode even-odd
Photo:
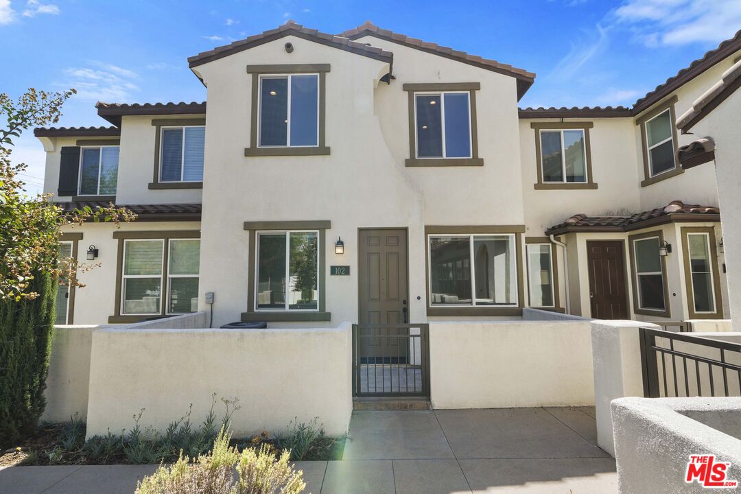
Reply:
[[[325,81],[329,64],[248,65],[250,147],[245,156],[328,155]]]

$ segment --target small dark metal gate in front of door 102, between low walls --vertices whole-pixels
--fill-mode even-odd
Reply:
[[[427,324],[353,324],[353,395],[429,396]]]

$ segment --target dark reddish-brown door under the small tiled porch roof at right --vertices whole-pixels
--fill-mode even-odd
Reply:
[[[625,256],[622,241],[587,241],[591,317],[627,319]]]

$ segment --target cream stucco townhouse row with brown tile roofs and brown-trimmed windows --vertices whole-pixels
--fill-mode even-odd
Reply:
[[[35,130],[54,201],[139,214],[65,234],[101,267],[58,322],[723,318],[715,170],[682,166],[674,122],[740,55],[741,33],[629,108],[519,109],[534,73],[370,22],[200,53],[205,102]]]

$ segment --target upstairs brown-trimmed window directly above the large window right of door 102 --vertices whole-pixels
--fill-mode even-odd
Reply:
[[[478,83],[404,84],[409,93],[409,167],[481,166]]]

